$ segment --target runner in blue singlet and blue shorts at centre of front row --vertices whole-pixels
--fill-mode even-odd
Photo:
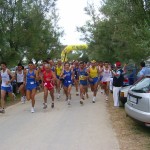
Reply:
[[[66,95],[66,100],[68,105],[70,105],[71,100],[71,89],[72,89],[72,79],[74,77],[73,71],[70,69],[69,63],[65,63],[64,70],[62,71],[60,77],[63,79],[63,88]]]

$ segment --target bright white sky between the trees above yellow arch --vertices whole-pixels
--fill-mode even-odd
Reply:
[[[100,0],[58,0],[59,26],[65,32],[63,38],[60,39],[62,44],[84,44],[80,41],[81,33],[76,31],[76,27],[83,26],[86,20],[89,20],[89,16],[84,12],[87,1],[93,2],[96,7],[100,5]]]

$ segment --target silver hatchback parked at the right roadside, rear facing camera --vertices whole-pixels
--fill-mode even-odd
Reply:
[[[144,77],[130,88],[125,111],[128,116],[150,126],[150,76]]]

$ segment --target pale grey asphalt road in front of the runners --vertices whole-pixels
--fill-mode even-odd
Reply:
[[[35,113],[30,102],[8,107],[0,114],[0,150],[119,150],[104,96],[99,93],[93,104],[91,94],[83,106],[73,91],[71,106],[62,94],[54,109],[48,97],[43,110],[39,93]]]

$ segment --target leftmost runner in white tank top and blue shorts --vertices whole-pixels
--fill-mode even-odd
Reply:
[[[9,94],[12,100],[15,99],[15,95],[12,93],[12,85],[11,82],[14,81],[15,76],[11,73],[11,71],[7,68],[7,64],[5,62],[1,63],[1,107],[0,113],[5,113],[5,97],[6,93]],[[11,78],[11,79],[10,79]]]

